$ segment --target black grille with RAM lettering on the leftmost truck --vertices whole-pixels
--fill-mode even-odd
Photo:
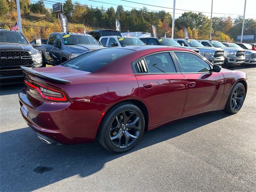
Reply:
[[[33,63],[29,52],[0,52],[0,66],[24,66]]]

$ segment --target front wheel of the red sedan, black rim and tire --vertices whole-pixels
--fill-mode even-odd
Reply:
[[[244,85],[242,83],[235,84],[228,96],[224,111],[226,113],[236,114],[242,108],[245,96]]]

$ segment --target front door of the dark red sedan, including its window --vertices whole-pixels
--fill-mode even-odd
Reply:
[[[182,116],[218,108],[224,91],[223,74],[211,72],[212,66],[194,53],[175,51],[174,55],[188,87]]]

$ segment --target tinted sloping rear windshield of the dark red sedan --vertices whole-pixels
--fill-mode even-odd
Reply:
[[[64,67],[80,71],[94,72],[109,62],[130,54],[134,50],[123,48],[106,48],[88,52],[62,64]]]

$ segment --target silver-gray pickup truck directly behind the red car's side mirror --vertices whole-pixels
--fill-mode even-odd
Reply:
[[[180,45],[185,47],[194,47],[200,50],[200,54],[205,57],[214,65],[220,65],[224,63],[224,50],[215,47],[205,47],[201,43],[192,39],[174,39]]]

